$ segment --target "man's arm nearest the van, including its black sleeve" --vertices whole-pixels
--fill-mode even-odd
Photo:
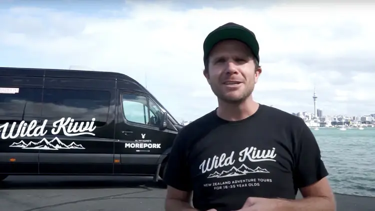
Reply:
[[[197,211],[189,201],[191,179],[186,159],[186,134],[182,129],[173,141],[163,180],[167,184],[165,211]]]

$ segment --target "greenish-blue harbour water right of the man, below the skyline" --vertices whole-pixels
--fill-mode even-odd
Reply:
[[[375,128],[311,129],[336,193],[375,196]]]

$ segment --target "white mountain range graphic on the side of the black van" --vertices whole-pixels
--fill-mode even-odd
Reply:
[[[58,137],[54,137],[51,141],[46,138],[41,139],[38,142],[30,141],[27,144],[21,140],[19,142],[13,142],[9,147],[18,147],[22,149],[41,149],[41,150],[58,150],[58,149],[84,149],[81,144],[76,144],[74,141],[69,145],[63,143]]]

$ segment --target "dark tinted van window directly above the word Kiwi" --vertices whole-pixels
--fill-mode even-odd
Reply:
[[[104,125],[108,117],[110,92],[99,90],[45,89],[42,117],[57,120],[71,117],[75,121],[91,121]]]

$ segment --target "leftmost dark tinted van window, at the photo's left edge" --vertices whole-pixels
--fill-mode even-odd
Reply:
[[[41,95],[42,89],[39,88],[19,88],[18,93],[0,93],[1,121],[39,118]],[[0,122],[2,123],[6,122]]]

